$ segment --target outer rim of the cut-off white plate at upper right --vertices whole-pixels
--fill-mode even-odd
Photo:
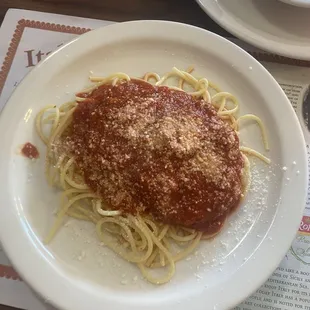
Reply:
[[[305,50],[303,52],[298,52],[299,49],[295,47],[295,53],[294,51],[290,51],[287,49],[287,45],[285,44],[274,44],[274,42],[269,41],[268,39],[265,39],[263,36],[257,35],[253,32],[251,34],[254,34],[254,36],[249,35],[250,33],[244,32],[244,28],[240,26],[238,23],[232,24],[227,23],[225,18],[219,18],[217,14],[208,8],[207,5],[204,4],[204,2],[212,1],[214,0],[196,0],[198,5],[201,7],[201,9],[209,16],[211,19],[223,27],[227,32],[233,34],[237,38],[244,40],[245,42],[262,49],[263,51],[267,51],[272,54],[276,54],[283,57],[288,57],[291,59],[298,59],[298,60],[304,60],[304,61],[310,61],[310,45],[307,47],[309,51]],[[282,1],[282,0],[281,0]],[[295,5],[296,6],[296,5]],[[273,43],[273,44],[272,44]],[[278,48],[277,48],[278,46]]]

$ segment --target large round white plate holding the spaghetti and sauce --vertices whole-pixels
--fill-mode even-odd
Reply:
[[[72,100],[88,83],[90,70],[96,75],[124,71],[141,76],[193,64],[198,75],[238,97],[240,114],[262,118],[271,144],[268,156],[273,164],[257,162],[253,189],[223,232],[202,242],[190,260],[178,263],[171,283],[162,286],[146,283],[135,266],[100,247],[92,225],[72,220],[44,246],[41,240],[59,200],[44,178],[45,148],[34,131],[39,109]],[[280,263],[305,205],[304,140],[280,86],[236,45],[188,25],[129,22],[75,39],[22,81],[1,115],[0,132],[1,242],[21,276],[61,309],[230,309]],[[245,126],[241,138],[264,152],[255,124]],[[36,163],[16,153],[26,141],[39,147]]]

